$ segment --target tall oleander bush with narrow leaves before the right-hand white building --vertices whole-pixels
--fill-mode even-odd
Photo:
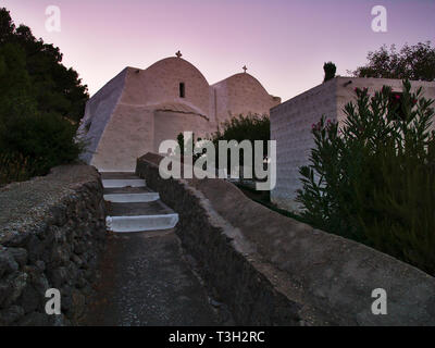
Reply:
[[[343,127],[314,124],[297,200],[312,225],[435,274],[433,100],[410,89],[407,80],[400,95],[357,89]]]

